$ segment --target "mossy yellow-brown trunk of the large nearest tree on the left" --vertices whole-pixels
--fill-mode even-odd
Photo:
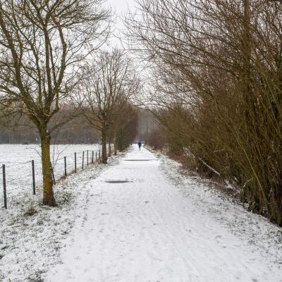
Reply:
[[[50,135],[45,131],[41,135],[41,158],[42,158],[42,174],[43,174],[43,204],[55,207],[56,200],[54,198],[52,168],[50,159]]]

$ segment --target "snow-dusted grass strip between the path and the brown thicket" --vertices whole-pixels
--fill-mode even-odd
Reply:
[[[280,265],[282,281],[282,228],[269,222],[264,216],[247,211],[232,196],[216,189],[211,180],[188,176],[186,169],[177,161],[163,154],[158,155],[162,160],[162,170],[174,181],[183,197],[188,197],[197,209],[210,214],[236,237],[241,238],[242,244],[258,251],[266,263]]]

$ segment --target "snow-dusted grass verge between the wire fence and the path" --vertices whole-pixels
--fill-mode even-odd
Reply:
[[[9,209],[0,209],[1,282],[43,281],[42,274],[59,263],[63,238],[75,219],[84,216],[93,193],[90,182],[117,161],[118,157],[111,157],[108,165],[94,164],[60,180],[55,186],[58,207],[43,206],[39,188],[32,197],[23,190],[18,202]]]

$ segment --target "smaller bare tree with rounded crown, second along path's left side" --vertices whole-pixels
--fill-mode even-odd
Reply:
[[[110,126],[138,90],[139,82],[132,62],[118,50],[102,52],[85,71],[78,102],[87,121],[102,133],[102,162],[106,164]]]

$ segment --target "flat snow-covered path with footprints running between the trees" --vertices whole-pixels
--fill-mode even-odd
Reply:
[[[131,147],[92,180],[62,264],[44,281],[282,281],[278,266],[184,198],[159,164],[147,149]]]

